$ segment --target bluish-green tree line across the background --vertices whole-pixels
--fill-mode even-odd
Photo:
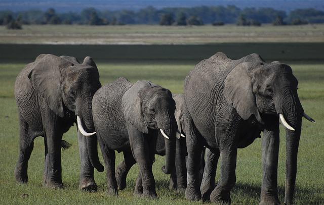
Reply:
[[[204,25],[215,26],[234,24],[259,26],[262,23],[273,25],[324,23],[324,12],[316,9],[296,9],[286,11],[272,8],[245,8],[235,6],[163,8],[146,7],[138,11],[99,11],[94,8],[82,12],[58,13],[50,8],[47,11],[29,10],[21,12],[0,11],[0,25],[8,28],[21,28],[23,24],[86,24],[86,25]]]

